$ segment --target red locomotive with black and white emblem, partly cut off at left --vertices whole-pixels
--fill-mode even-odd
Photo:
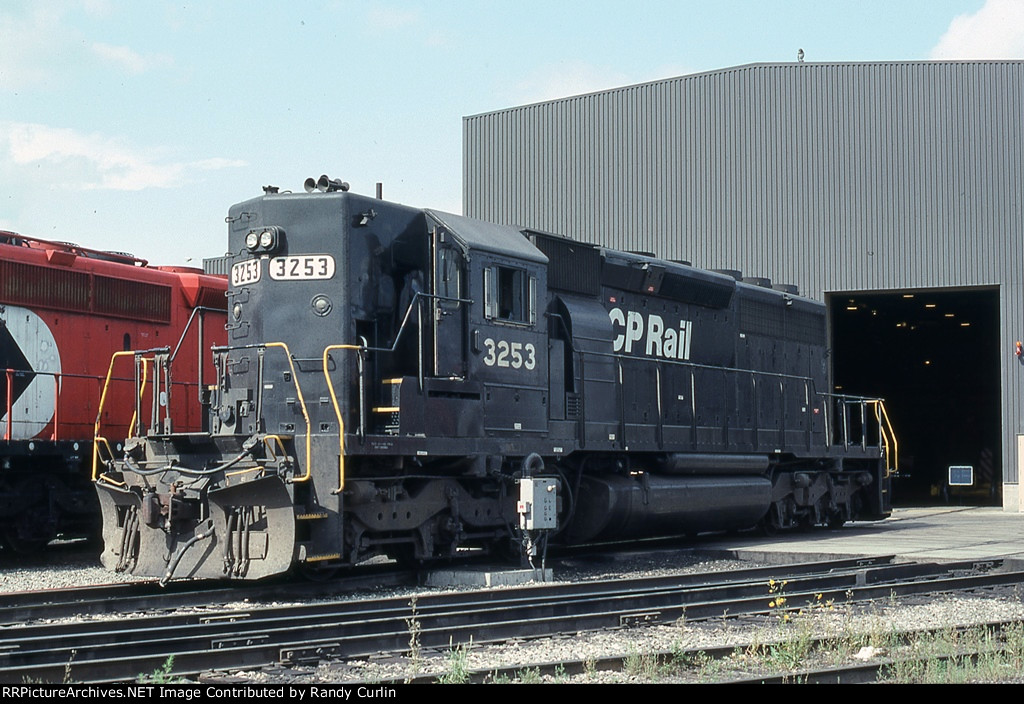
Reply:
[[[163,381],[198,398],[201,348],[225,342],[226,289],[199,269],[0,231],[0,542],[30,553],[99,533],[92,439],[123,439],[124,409],[152,401],[135,396],[130,358],[109,375],[113,354],[175,348],[180,376]],[[199,431],[206,416],[182,406],[174,426]]]

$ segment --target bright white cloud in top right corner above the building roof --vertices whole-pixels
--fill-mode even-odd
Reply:
[[[1024,0],[987,0],[954,17],[931,58],[1024,58]]]

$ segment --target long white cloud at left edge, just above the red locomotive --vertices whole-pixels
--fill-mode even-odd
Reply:
[[[161,160],[99,134],[32,123],[0,123],[6,135],[6,155],[17,167],[32,167],[32,180],[60,187],[106,190],[172,188],[188,180],[195,170],[219,170],[245,166],[221,158],[197,162]],[[0,141],[0,146],[4,146]]]

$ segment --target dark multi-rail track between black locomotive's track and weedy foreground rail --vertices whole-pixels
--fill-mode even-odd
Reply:
[[[308,663],[409,650],[415,623],[423,648],[537,637],[637,623],[769,610],[766,583],[786,582],[791,603],[821,595],[837,602],[892,593],[949,591],[1019,583],[1024,573],[995,562],[894,565],[891,557],[702,573],[427,593],[301,606],[253,604],[246,610],[137,615],[118,620],[0,629],[4,681],[115,681],[159,669],[174,673]],[[237,592],[231,590],[232,601]]]

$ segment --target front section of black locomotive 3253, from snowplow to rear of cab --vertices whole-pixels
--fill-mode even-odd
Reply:
[[[547,433],[547,258],[510,227],[347,192],[227,220],[211,432],[111,463],[104,562],[253,578],[507,534],[503,470]]]

